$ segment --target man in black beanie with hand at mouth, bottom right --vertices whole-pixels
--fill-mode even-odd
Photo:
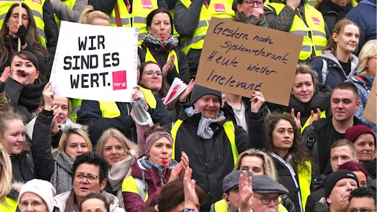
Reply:
[[[326,203],[316,203],[315,212],[347,212],[351,191],[359,187],[357,176],[347,170],[328,175],[323,181]]]

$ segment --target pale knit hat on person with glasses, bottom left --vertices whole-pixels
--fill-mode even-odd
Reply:
[[[27,192],[38,195],[44,201],[44,203],[46,203],[49,212],[54,210],[54,196],[56,190],[49,181],[38,179],[27,181],[20,190],[20,195],[18,195],[18,203],[20,203],[22,195]]]

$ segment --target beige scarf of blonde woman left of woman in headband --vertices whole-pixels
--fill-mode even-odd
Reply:
[[[135,162],[135,158],[127,155],[123,160],[111,167],[107,181],[110,183],[113,191],[121,189],[123,179],[131,175],[131,165],[133,162]]]

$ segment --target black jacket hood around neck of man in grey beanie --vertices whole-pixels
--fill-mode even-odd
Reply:
[[[184,104],[182,106],[182,108],[181,108],[181,111],[179,112],[178,119],[185,120],[186,123],[190,123],[190,124],[193,124],[195,126],[198,126],[199,125],[199,121],[200,121],[200,119],[202,117],[202,113],[199,112],[199,113],[194,114],[194,115],[192,115],[190,117],[185,112],[185,109],[186,108],[190,108],[191,106],[194,107],[194,105],[191,104],[191,103]],[[223,108],[220,108],[219,114],[221,114],[221,115],[217,118],[218,122],[216,122],[216,123],[224,124],[225,121],[229,120],[229,114]]]

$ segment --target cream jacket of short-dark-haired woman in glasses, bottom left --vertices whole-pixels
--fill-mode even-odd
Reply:
[[[59,209],[58,212],[64,212],[69,194],[70,194],[70,191],[65,192],[63,194],[56,195],[54,197],[54,201],[55,201],[54,207]],[[115,197],[112,194],[107,193],[106,191],[102,191],[101,194],[105,197],[107,204],[110,205],[110,212],[124,211],[123,209],[119,207],[119,200],[117,197]]]

